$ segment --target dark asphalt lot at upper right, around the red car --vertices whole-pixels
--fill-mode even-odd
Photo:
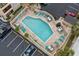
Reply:
[[[42,10],[49,12],[56,20],[58,20],[59,17],[64,16],[66,11],[74,13],[79,12],[79,3],[48,3],[47,6],[42,7]],[[65,21],[74,24],[78,21],[78,19],[67,16]]]

